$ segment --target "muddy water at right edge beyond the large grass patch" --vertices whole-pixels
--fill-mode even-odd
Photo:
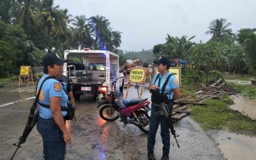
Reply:
[[[242,114],[246,114],[251,118],[256,118],[256,99],[244,98],[241,95],[231,95],[230,98],[234,100],[234,105],[229,106],[233,110],[237,110]]]

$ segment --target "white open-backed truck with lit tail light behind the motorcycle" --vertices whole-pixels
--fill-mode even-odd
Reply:
[[[119,70],[117,54],[107,50],[65,50],[64,59],[70,55],[81,57],[83,63],[64,63],[64,75],[70,80],[74,98],[81,95],[93,95],[96,100],[99,94],[111,89],[111,82],[117,79],[115,89],[123,91],[123,73]]]

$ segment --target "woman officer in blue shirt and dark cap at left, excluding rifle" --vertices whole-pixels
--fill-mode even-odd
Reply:
[[[39,80],[37,88],[47,77],[59,78],[63,73],[63,63],[67,60],[60,59],[56,54],[46,54],[41,60],[44,75]],[[65,159],[66,143],[71,143],[71,135],[65,126],[64,117],[67,111],[62,111],[61,106],[67,108],[68,96],[62,84],[56,79],[47,79],[39,94],[39,118],[37,129],[43,138],[44,159]],[[49,106],[49,108],[43,105]]]

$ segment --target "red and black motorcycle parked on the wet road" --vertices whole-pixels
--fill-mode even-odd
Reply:
[[[107,98],[102,98],[97,107],[101,107],[99,115],[105,121],[115,121],[120,118],[125,128],[127,124],[134,124],[145,134],[149,134],[149,119],[147,114],[151,108],[151,101],[147,98],[126,99],[120,103],[115,94],[115,82],[111,84],[111,91],[107,93]]]

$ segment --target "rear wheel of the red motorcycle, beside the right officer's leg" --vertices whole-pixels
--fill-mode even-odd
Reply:
[[[149,114],[147,114],[147,112],[143,110],[136,111],[136,114],[138,116],[139,122],[143,124],[143,126],[138,126],[139,129],[145,134],[149,134],[149,122],[150,122]]]

